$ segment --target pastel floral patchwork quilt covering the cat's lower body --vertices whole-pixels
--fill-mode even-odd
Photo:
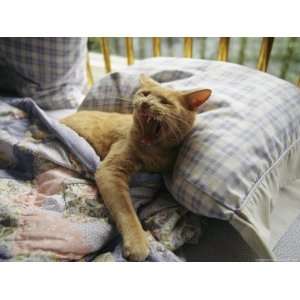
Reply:
[[[46,139],[33,137],[40,126]],[[31,99],[0,97],[0,260],[126,261],[93,182],[99,164],[82,138]],[[198,243],[201,218],[175,202],[159,174],[138,174],[130,192],[149,233],[147,261],[183,260],[176,250]]]

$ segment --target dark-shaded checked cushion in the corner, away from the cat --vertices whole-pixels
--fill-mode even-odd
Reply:
[[[0,38],[0,94],[74,108],[87,89],[87,38]]]

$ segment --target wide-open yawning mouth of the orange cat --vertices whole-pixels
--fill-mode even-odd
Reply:
[[[160,135],[161,122],[151,112],[139,112],[138,117],[144,129],[141,142],[146,145],[155,143]]]

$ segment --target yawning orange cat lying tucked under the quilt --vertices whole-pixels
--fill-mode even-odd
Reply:
[[[142,261],[149,254],[145,232],[132,205],[128,182],[138,171],[172,168],[178,147],[192,129],[196,109],[211,90],[180,92],[145,75],[133,99],[133,114],[79,111],[62,120],[85,138],[101,157],[95,180],[123,237],[123,253]]]

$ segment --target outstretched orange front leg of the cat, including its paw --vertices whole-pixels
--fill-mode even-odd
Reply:
[[[105,206],[123,237],[124,256],[129,260],[143,261],[149,255],[149,244],[128,186],[129,176],[136,167],[124,157],[124,153],[120,156],[111,151],[96,171],[95,179]]]

